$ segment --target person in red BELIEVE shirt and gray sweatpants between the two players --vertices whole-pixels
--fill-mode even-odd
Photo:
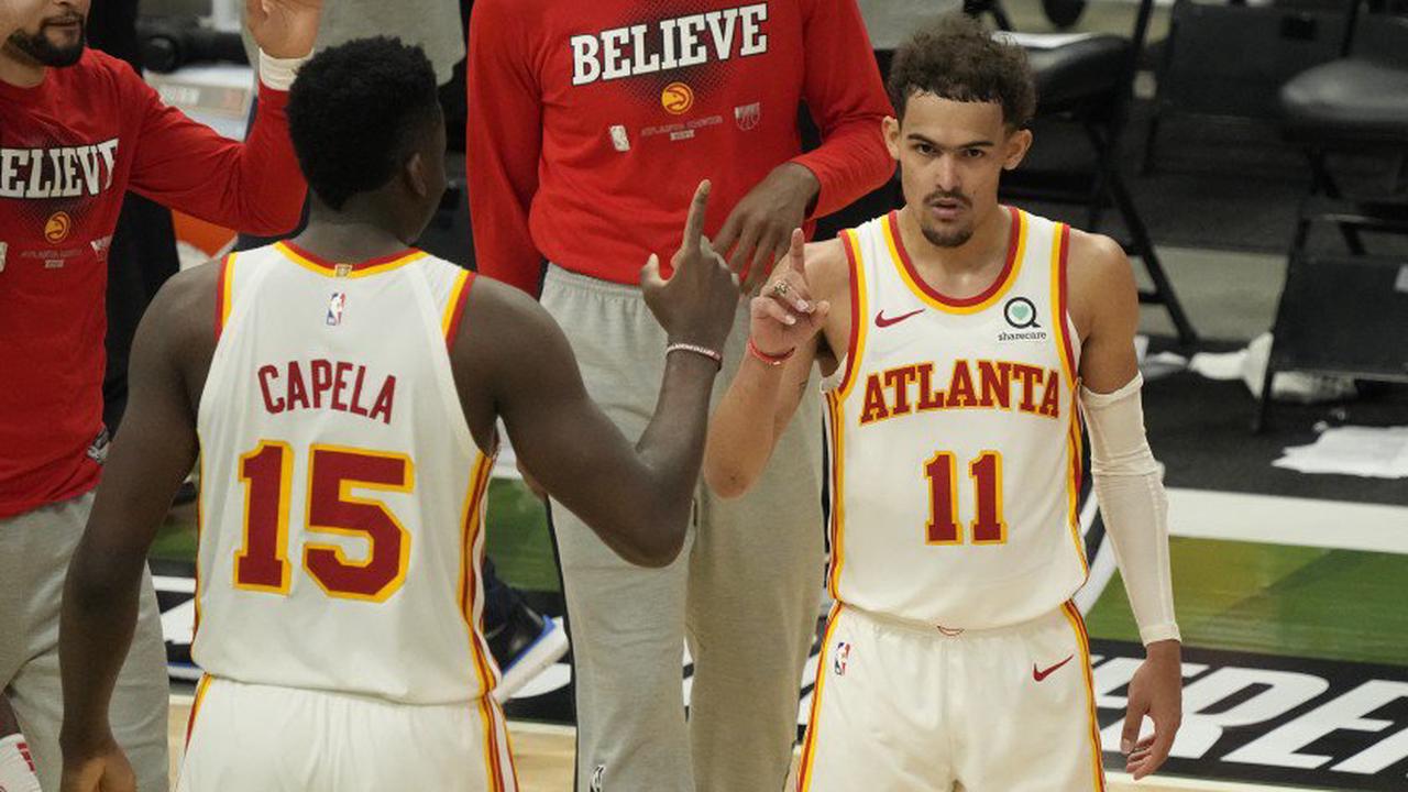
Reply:
[[[855,0],[479,0],[469,49],[479,271],[529,293],[543,283],[593,399],[628,435],[650,414],[665,347],[634,283],[646,255],[672,249],[694,185],[712,180],[705,233],[752,286],[794,228],[894,171]],[[822,135],[807,154],[803,103]],[[801,412],[811,423],[748,497],[700,490],[691,541],[663,571],[615,558],[552,505],[579,788],[749,792],[787,775],[822,571],[815,392]]]

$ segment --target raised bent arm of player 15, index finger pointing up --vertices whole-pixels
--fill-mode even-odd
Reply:
[[[672,344],[721,349],[738,292],[728,268],[700,251],[703,194],[690,211],[686,240],[694,241],[676,254],[670,280],[659,279],[652,256],[642,286]],[[634,564],[673,561],[698,481],[718,362],[669,354],[655,417],[632,448],[587,396],[567,338],[538,303],[479,279],[466,311],[472,318],[462,323],[453,362],[480,445],[489,447],[484,438],[501,416],[524,468],[608,547]]]

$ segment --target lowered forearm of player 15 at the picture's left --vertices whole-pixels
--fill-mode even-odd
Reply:
[[[84,538],[69,564],[59,626],[65,751],[108,734],[108,702],[137,626],[145,558]]]

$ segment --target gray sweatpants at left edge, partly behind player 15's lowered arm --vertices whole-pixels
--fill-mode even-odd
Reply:
[[[0,682],[34,755],[39,788],[58,791],[63,757],[59,607],[69,558],[83,536],[93,493],[0,520]],[[166,792],[170,688],[152,575],[142,575],[132,648],[113,692],[113,736],[137,771],[139,792]]]

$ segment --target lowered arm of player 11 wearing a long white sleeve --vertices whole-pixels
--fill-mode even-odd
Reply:
[[[1081,412],[1090,428],[1095,499],[1139,624],[1146,660],[1129,683],[1121,750],[1143,778],[1169,757],[1181,722],[1181,652],[1169,567],[1169,502],[1149,450],[1139,400],[1135,331],[1139,295],[1133,269],[1117,242],[1071,231],[1071,293],[1088,316],[1081,375]],[[1139,740],[1145,714],[1155,733]]]

